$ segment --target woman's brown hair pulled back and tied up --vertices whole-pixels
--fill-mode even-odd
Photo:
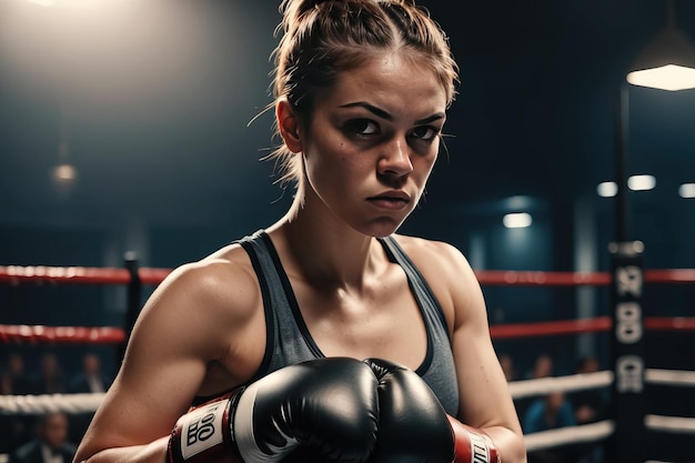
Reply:
[[[286,97],[305,121],[315,89],[364,63],[370,56],[365,49],[397,49],[424,60],[446,90],[447,104],[454,100],[459,69],[449,40],[414,0],[283,0],[280,11],[273,97]],[[301,157],[281,145],[269,158],[282,167],[282,183],[298,179]]]

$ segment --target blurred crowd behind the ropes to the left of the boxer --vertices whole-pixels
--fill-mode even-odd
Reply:
[[[80,366],[68,371],[56,352],[40,354],[37,368],[29,368],[26,355],[9,353],[0,369],[0,392],[8,395],[77,394],[105,392],[111,375],[102,371],[102,359],[82,353]],[[93,412],[44,414],[0,414],[0,454],[9,463],[70,463]]]

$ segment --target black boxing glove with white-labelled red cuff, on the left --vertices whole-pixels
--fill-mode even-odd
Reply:
[[[376,441],[372,371],[331,358],[278,370],[181,416],[169,463],[364,462]]]

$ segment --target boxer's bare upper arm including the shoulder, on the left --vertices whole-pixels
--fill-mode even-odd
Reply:
[[[225,354],[248,318],[245,306],[251,304],[243,296],[230,300],[226,276],[233,278],[215,264],[179,269],[148,300],[119,374],[80,444],[81,460],[104,449],[148,444],[171,432],[208,363]]]

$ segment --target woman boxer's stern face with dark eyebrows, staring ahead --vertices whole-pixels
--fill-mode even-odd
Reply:
[[[316,94],[299,128],[305,207],[373,236],[393,233],[422,195],[440,149],[446,92],[426,66],[376,54]]]

